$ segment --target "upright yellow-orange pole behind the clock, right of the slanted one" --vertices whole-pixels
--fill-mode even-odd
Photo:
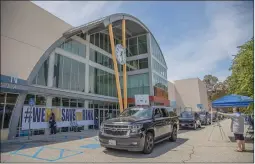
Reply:
[[[126,50],[126,20],[122,20],[122,46]],[[126,51],[127,52],[127,51]],[[123,65],[124,109],[127,108],[127,65]],[[122,112],[122,111],[121,111]]]

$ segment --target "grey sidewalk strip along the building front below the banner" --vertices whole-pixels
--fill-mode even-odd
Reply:
[[[53,140],[75,140],[75,139],[82,139],[82,138],[89,138],[96,136],[98,133],[97,130],[84,130],[81,132],[64,132],[64,133],[57,133],[55,135],[35,135],[30,136],[30,139],[28,140],[28,136],[24,137],[18,137],[12,140],[4,140],[1,141],[1,144],[6,143],[26,143],[26,142],[34,142],[34,141],[53,141]]]

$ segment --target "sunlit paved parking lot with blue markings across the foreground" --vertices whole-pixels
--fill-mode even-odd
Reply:
[[[177,142],[157,144],[151,154],[100,147],[97,136],[63,137],[55,140],[1,145],[4,163],[253,163],[253,141],[246,144],[246,152],[235,152],[231,140],[229,120],[222,121],[227,136],[222,139],[218,127],[196,131],[180,130]]]

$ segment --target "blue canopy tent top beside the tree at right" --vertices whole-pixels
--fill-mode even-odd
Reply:
[[[253,99],[242,95],[227,95],[212,102],[213,108],[248,107]]]

